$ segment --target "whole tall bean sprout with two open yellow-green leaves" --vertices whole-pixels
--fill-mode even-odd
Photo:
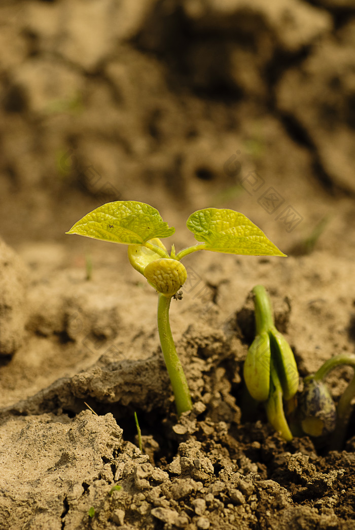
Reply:
[[[171,236],[175,228],[163,222],[158,210],[144,202],[115,201],[91,211],[66,232],[128,245],[129,262],[158,291],[159,338],[178,416],[192,409],[189,388],[169,322],[171,298],[187,279],[186,269],[180,260],[199,250],[285,256],[260,228],[234,210],[198,210],[188,218],[186,226],[198,243],[177,254],[175,246],[171,245],[169,254],[160,238]]]

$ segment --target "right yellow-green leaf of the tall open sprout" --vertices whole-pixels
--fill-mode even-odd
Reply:
[[[186,223],[197,241],[213,252],[285,256],[250,219],[225,208],[197,210]]]

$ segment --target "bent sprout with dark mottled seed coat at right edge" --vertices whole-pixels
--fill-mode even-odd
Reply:
[[[348,365],[354,369],[354,375],[341,395],[335,410],[335,404],[323,380],[337,366]],[[314,375],[304,379],[305,387],[300,398],[301,428],[310,436],[319,437],[333,432],[331,449],[341,449],[347,434],[349,419],[355,397],[355,355],[340,354],[328,359]]]

